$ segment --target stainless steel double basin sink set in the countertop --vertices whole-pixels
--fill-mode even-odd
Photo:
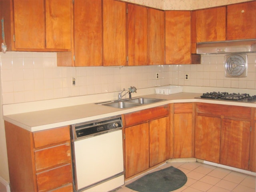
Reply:
[[[164,99],[134,98],[134,99],[117,100],[117,101],[97,103],[97,104],[101,104],[101,105],[104,105],[104,106],[110,106],[110,107],[114,107],[114,108],[125,109],[125,108],[132,108],[132,107],[141,106],[141,105],[144,105],[144,104],[151,104],[151,103],[155,103],[155,102],[160,102],[162,100],[164,100]]]

